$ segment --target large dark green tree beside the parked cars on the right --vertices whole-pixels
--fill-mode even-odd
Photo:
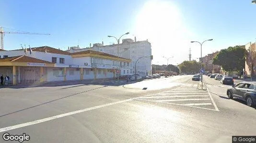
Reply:
[[[222,49],[212,61],[212,64],[220,65],[225,71],[241,71],[245,65],[246,50],[240,46]]]

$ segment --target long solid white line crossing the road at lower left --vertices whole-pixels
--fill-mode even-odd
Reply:
[[[32,121],[32,122],[21,123],[21,124],[9,126],[9,127],[1,128],[0,133],[10,131],[10,130],[13,130],[13,129],[22,128],[22,127],[33,125],[33,124],[37,124],[37,123],[47,122],[47,121],[50,121],[50,120],[58,119],[58,118],[61,118],[61,117],[72,115],[72,114],[86,112],[86,111],[90,111],[90,110],[93,110],[93,109],[102,108],[102,107],[106,107],[106,106],[110,106],[110,105],[114,105],[114,104],[119,104],[119,103],[123,103],[123,102],[128,102],[128,101],[132,101],[132,99],[122,100],[122,101],[118,101],[118,102],[112,102],[112,103],[103,104],[103,105],[99,105],[99,106],[94,106],[94,107],[90,107],[90,108],[85,108],[85,109],[81,109],[81,110],[77,110],[77,111],[73,111],[73,112],[67,112],[67,113],[64,113],[64,114],[60,114],[60,115],[56,115],[56,116],[52,116],[52,117]]]

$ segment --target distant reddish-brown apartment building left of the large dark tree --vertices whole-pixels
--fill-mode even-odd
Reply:
[[[221,66],[219,65],[214,65],[212,64],[213,58],[219,53],[219,51],[212,52],[208,54],[207,56],[204,56],[200,59],[200,62],[202,61],[205,67],[206,72],[211,72],[211,73],[220,73],[221,71]]]

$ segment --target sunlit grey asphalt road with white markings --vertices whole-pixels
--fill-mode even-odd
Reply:
[[[255,108],[228,99],[220,81],[204,76],[207,90],[199,90],[191,77],[1,88],[0,134],[26,133],[23,143],[232,143],[232,135],[256,135]]]

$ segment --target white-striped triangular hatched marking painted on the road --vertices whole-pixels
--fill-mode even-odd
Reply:
[[[199,90],[197,84],[186,84],[174,90],[135,98],[137,100],[193,106],[209,110],[218,108],[206,90]]]

